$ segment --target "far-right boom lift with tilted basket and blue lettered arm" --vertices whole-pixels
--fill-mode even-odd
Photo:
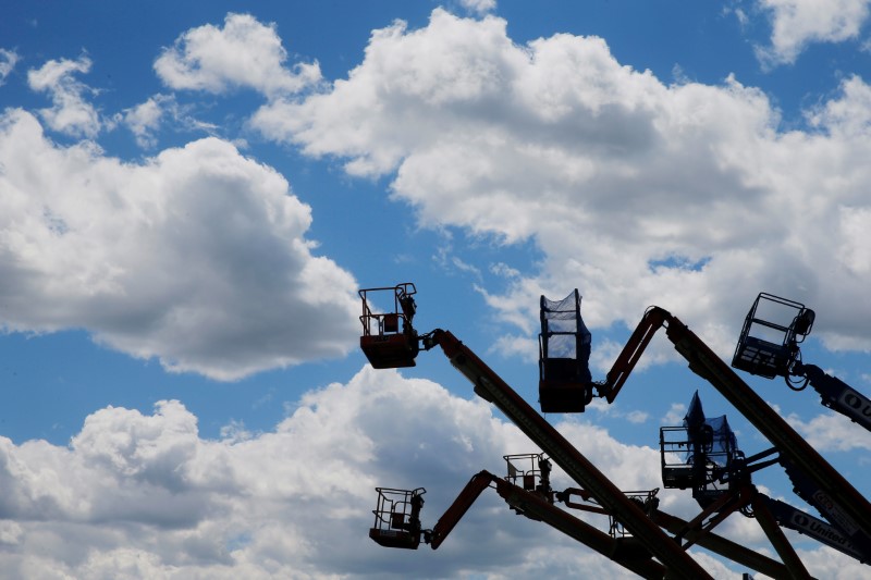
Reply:
[[[803,304],[764,292],[747,313],[732,366],[750,374],[783,377],[793,391],[810,384],[822,404],[871,430],[871,400],[814,365],[801,362],[799,344],[810,334],[815,314]]]

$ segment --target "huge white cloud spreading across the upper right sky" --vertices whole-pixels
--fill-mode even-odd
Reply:
[[[830,345],[869,347],[867,95],[854,77],[808,131],[785,132],[735,77],[667,85],[601,38],[519,46],[501,18],[436,10],[373,32],[347,78],[269,102],[253,125],[391,176],[424,225],[535,240],[541,271],[489,300],[508,320],[577,286],[593,329],[634,328],[655,304],[728,357],[760,291],[814,308]]]

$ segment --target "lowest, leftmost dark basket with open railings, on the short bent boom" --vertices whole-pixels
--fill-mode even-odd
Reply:
[[[376,488],[378,504],[372,510],[375,525],[369,538],[385,547],[417,550],[420,545],[420,508],[427,490]]]

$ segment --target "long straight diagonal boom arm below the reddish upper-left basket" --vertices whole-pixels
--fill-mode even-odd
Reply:
[[[580,454],[553,425],[493,370],[449,331],[436,330],[424,338],[426,348],[439,345],[451,363],[475,386],[475,393],[493,403],[533,443],[551,457],[596,501],[613,514],[673,575],[711,578],[692,557],[663,532],[645,511]]]

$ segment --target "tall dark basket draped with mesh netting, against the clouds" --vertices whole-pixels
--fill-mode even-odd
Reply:
[[[581,412],[592,399],[590,343],[577,288],[562,300],[541,296],[539,403],[542,412]]]

